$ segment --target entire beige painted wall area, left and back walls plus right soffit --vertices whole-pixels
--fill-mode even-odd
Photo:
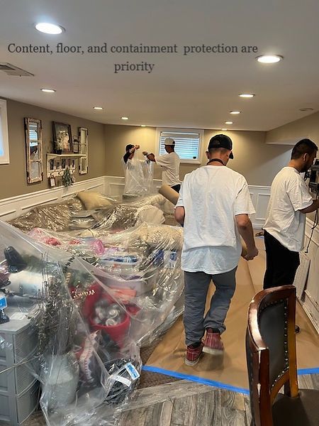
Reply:
[[[73,134],[77,133],[77,128],[80,126],[89,129],[89,173],[79,175],[76,172],[76,181],[101,175],[123,176],[121,158],[128,143],[140,144],[138,158],[141,159],[143,150],[156,152],[156,128],[154,127],[103,125],[12,100],[7,100],[7,110],[10,164],[0,165],[0,199],[44,190],[48,187],[45,153],[52,152],[52,121],[71,124]],[[24,117],[40,119],[43,123],[44,179],[43,182],[32,185],[28,185],[26,182]],[[204,132],[201,164],[206,163],[206,147],[211,136],[216,133],[218,131],[206,130]],[[271,185],[274,175],[288,163],[291,146],[267,145],[265,140],[274,141],[274,139],[289,138],[300,134],[316,141],[319,138],[319,113],[267,133],[258,131],[229,131],[226,133],[233,139],[235,155],[234,160],[230,160],[228,166],[245,175],[250,185]],[[181,179],[196,167],[198,165],[181,164]],[[155,178],[161,178],[161,169],[158,166],[155,167]]]

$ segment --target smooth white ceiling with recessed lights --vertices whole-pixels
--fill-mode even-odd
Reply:
[[[0,96],[106,124],[128,116],[130,125],[267,131],[319,110],[318,17],[318,0],[0,0],[0,62],[34,74],[0,72]],[[39,33],[38,21],[65,32]],[[10,53],[10,43],[49,44],[53,53]],[[57,43],[81,45],[84,55],[55,53]],[[103,43],[108,53],[87,53]],[[178,53],[109,52],[140,43],[176,44]],[[183,54],[184,45],[218,43],[239,52]],[[258,53],[240,53],[242,45]],[[284,60],[257,62],[267,53]],[[152,72],[114,72],[127,62],[155,65]],[[256,96],[241,99],[242,92]],[[235,109],[242,113],[230,115]]]

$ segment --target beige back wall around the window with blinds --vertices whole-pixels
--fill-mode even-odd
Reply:
[[[208,141],[218,131],[206,130],[201,147],[201,164],[206,163],[205,151]],[[272,146],[264,143],[266,133],[262,131],[226,132],[234,143],[234,160],[228,166],[245,175],[250,185],[271,185],[274,175],[288,163],[291,147]],[[138,158],[142,151],[156,152],[156,129],[140,126],[106,125],[106,175],[123,176],[121,158],[128,143],[139,144]],[[180,178],[197,168],[198,165],[181,164]],[[155,167],[155,178],[161,178],[161,170]]]

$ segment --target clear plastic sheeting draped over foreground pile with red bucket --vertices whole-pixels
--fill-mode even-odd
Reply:
[[[22,314],[38,336],[16,366],[30,359],[47,424],[113,425],[138,383],[139,346],[181,313],[182,229],[142,224],[85,244],[70,244],[73,236],[64,233],[55,247],[4,222],[0,231],[6,313]],[[34,233],[40,240],[62,234]],[[81,244],[94,253],[94,264],[57,250]]]

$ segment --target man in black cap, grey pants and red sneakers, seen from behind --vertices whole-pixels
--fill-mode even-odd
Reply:
[[[225,331],[225,317],[235,292],[240,235],[247,244],[246,260],[258,254],[248,217],[254,207],[247,182],[240,173],[225,167],[233,158],[232,149],[228,136],[211,138],[207,165],[185,176],[175,207],[175,219],[184,224],[181,269],[185,276],[185,363],[189,366],[197,364],[202,351],[223,353],[220,334]],[[211,280],[216,291],[204,317]]]

